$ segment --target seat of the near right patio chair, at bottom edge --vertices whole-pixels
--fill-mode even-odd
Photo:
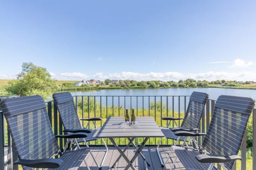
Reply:
[[[199,154],[199,152],[195,149],[188,149],[186,147],[177,147],[172,146],[172,149],[175,152],[175,155],[179,158],[180,163],[186,168],[186,169],[197,169],[197,170],[205,170],[208,169],[210,166],[210,163],[200,163],[196,159],[196,155]],[[177,160],[178,163],[178,160]],[[213,167],[212,169],[216,169],[216,167]]]

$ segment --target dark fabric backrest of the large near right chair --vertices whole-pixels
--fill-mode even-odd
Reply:
[[[220,96],[215,103],[203,149],[221,156],[237,155],[254,102],[247,97]],[[233,165],[234,162],[225,163],[228,169]]]

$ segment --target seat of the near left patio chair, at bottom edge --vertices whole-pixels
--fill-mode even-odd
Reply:
[[[60,156],[63,163],[59,168],[53,168],[52,170],[81,169],[79,166],[81,166],[89,151],[90,149],[78,149],[64,152]],[[87,169],[87,167],[85,166],[84,169]]]

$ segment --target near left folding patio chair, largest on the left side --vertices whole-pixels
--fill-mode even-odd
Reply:
[[[26,170],[35,168],[63,170],[78,168],[84,162],[90,169],[85,160],[90,149],[62,152],[55,138],[85,138],[86,134],[54,136],[45,101],[41,96],[5,99],[1,102],[1,108],[12,137],[14,150],[18,154],[15,165],[21,165]],[[59,158],[54,159],[55,156]]]

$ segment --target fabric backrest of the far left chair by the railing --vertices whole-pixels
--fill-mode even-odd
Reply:
[[[76,112],[73,96],[70,92],[59,92],[52,95],[55,105],[60,113],[65,129],[81,129],[82,125]]]

